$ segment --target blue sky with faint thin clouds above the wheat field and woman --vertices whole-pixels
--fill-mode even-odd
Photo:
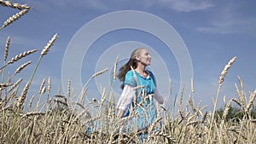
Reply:
[[[20,1],[13,2],[20,3]],[[172,82],[173,95],[179,95],[180,93],[183,84],[180,78],[182,73],[186,72],[180,72],[179,60],[190,60],[191,62],[188,65],[192,66],[193,72],[188,73],[194,79],[195,103],[202,101],[202,105],[212,107],[212,98],[215,98],[218,89],[220,72],[233,56],[237,56],[237,60],[231,66],[225,78],[220,93],[219,106],[223,105],[224,95],[226,101],[231,97],[236,97],[235,83],[238,83],[237,76],[240,76],[243,80],[247,95],[249,91],[256,88],[256,60],[254,59],[256,54],[256,12],[254,9],[256,2],[253,0],[141,0],[139,2],[128,0],[25,0],[22,3],[27,3],[32,9],[20,20],[15,21],[0,32],[0,46],[2,48],[0,54],[3,55],[4,53],[4,45],[8,36],[11,37],[9,60],[11,57],[29,49],[38,49],[39,52],[7,68],[7,72],[13,73],[23,62],[33,61],[32,65],[15,79],[24,78],[23,83],[25,83],[31,76],[32,68],[38,60],[40,50],[44,48],[44,45],[48,43],[55,32],[60,36],[55,41],[55,45],[49,50],[49,54],[45,55],[41,61],[38,73],[33,81],[34,89],[31,89],[31,94],[38,93],[37,90],[43,78],[52,78],[52,95],[55,95],[60,85],[61,87],[62,84],[64,84],[63,87],[67,86],[69,77],[71,80],[73,80],[73,77],[78,77],[80,81],[72,81],[73,93],[75,94],[76,84],[85,84],[94,72],[103,68],[108,67],[112,70],[117,55],[120,55],[121,58],[119,66],[124,64],[131,50],[137,46],[146,46],[154,55],[150,69],[158,79],[162,95],[170,95],[168,92],[169,79]],[[75,43],[75,47],[84,49],[83,43],[87,40],[86,37],[93,37],[94,33],[100,32],[101,27],[120,24],[122,21],[119,20],[123,18],[117,18],[111,23],[102,21],[99,26],[94,27],[96,29],[91,29],[88,33],[83,32],[83,26],[88,27],[90,22],[101,20],[106,14],[124,12],[125,10],[152,14],[153,17],[166,21],[183,41],[189,57],[186,54],[184,54],[186,57],[174,55],[170,49],[178,48],[169,48],[162,42],[161,38],[131,28],[102,33],[102,36],[90,45],[86,54],[84,54],[84,51],[75,51],[72,54],[66,53],[67,49],[72,49],[72,42],[76,41],[79,32],[84,33],[84,39],[81,40],[83,41],[81,43]],[[0,7],[1,23],[17,12],[17,9]],[[134,16],[136,17],[136,15]],[[130,18],[126,19],[130,20]],[[152,28],[166,34],[166,37],[170,36],[171,41],[173,37],[169,35],[170,33],[166,29],[158,27],[159,25],[154,25],[154,21],[152,21]],[[131,21],[131,23],[145,25],[145,27],[150,26],[148,23],[143,23],[142,20]],[[77,56],[82,55],[81,53],[84,55],[83,60],[76,61]],[[67,66],[70,66],[67,67],[68,71],[72,71],[74,74],[79,72],[79,76],[72,76],[71,72],[68,73],[69,76],[65,75],[61,79],[61,75],[66,72],[65,68],[63,69],[61,66],[64,65],[63,61],[65,61],[67,55],[72,59],[70,63],[65,62]],[[81,65],[76,67],[76,64]],[[91,81],[88,98],[99,98],[96,86],[102,85],[102,87],[109,88],[110,77],[111,72],[107,72]],[[118,81],[114,89],[119,95]],[[186,84],[185,89],[189,91],[190,85]],[[64,89],[62,94],[66,93],[65,90],[67,89]],[[188,97],[188,95],[184,96]]]

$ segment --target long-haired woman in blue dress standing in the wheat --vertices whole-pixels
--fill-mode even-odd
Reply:
[[[130,60],[119,69],[118,78],[123,84],[117,108],[119,118],[137,113],[131,118],[130,129],[147,130],[148,126],[156,119],[156,108],[154,100],[160,104],[164,98],[158,95],[155,78],[152,72],[148,71],[151,56],[145,48],[135,49],[131,53]]]

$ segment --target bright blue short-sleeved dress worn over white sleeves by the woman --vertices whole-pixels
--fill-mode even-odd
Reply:
[[[136,89],[135,99],[131,102],[131,106],[124,115],[124,117],[129,116],[131,110],[137,112],[137,115],[131,118],[131,124],[128,126],[131,127],[130,129],[134,129],[134,126],[137,126],[137,130],[146,130],[148,125],[154,123],[154,120],[157,118],[156,108],[154,107],[154,75],[150,71],[147,72],[147,78],[144,78],[135,70],[131,70],[125,75],[125,85],[128,84],[139,88]]]

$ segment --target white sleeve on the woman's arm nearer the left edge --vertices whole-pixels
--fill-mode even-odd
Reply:
[[[134,95],[135,95],[134,87],[126,84],[122,94],[119,97],[117,108],[126,111],[127,108],[130,106]]]

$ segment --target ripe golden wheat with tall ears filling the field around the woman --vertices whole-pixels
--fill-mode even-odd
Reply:
[[[30,8],[9,1],[0,1],[0,4],[20,10]],[[15,16],[12,16],[7,21],[13,22],[14,20],[11,19],[14,18]],[[0,32],[7,26],[6,24],[2,26]],[[12,78],[19,77],[19,73],[32,61],[21,65],[14,75],[9,77],[7,81],[3,81],[4,74],[6,74],[4,69],[7,66],[15,65],[15,61],[21,58],[26,59],[26,55],[31,55],[37,51],[36,49],[27,51],[8,60],[8,49],[11,40],[10,37],[7,38],[5,54],[3,55],[4,63],[3,66],[0,66],[0,74],[2,75],[0,84],[0,143],[140,143],[141,140],[138,135],[143,131],[138,131],[136,127],[129,132],[125,131],[127,124],[132,125],[129,119],[137,113],[131,113],[131,116],[127,118],[117,118],[112,92],[107,93],[106,89],[102,88],[100,100],[93,99],[90,103],[84,104],[87,89],[90,89],[87,87],[90,80],[107,72],[108,69],[96,72],[89,78],[79,101],[73,101],[73,95],[70,93],[72,79],[68,81],[69,90],[67,95],[52,95],[50,78],[48,78],[47,86],[45,84],[47,79],[43,80],[38,95],[28,93],[40,60],[44,55],[47,55],[56,38],[57,34],[49,40],[49,43],[42,50],[28,82],[23,82],[23,78],[13,82]],[[249,99],[247,100],[241,78],[238,78],[240,88],[237,84],[235,85],[237,97],[228,101],[224,107],[223,115],[220,116],[216,112],[219,90],[224,84],[224,77],[228,69],[235,60],[236,58],[231,59],[220,75],[218,92],[212,111],[206,111],[206,107],[201,106],[201,103],[195,104],[193,98],[196,95],[194,93],[194,83],[191,80],[189,102],[183,104],[182,92],[179,99],[178,96],[175,96],[172,101],[172,109],[178,104],[177,113],[172,110],[165,111],[166,109],[163,106],[159,107],[158,112],[164,113],[166,116],[159,116],[154,124],[148,127],[148,137],[143,140],[143,143],[256,143],[256,119],[253,119],[251,113],[253,107],[255,107],[256,90],[249,92]],[[117,64],[118,58],[113,67],[116,67]],[[115,75],[116,68],[113,71],[113,83]],[[26,84],[23,89],[20,88],[21,84]],[[22,89],[21,92],[19,92],[19,89]],[[172,94],[171,83],[170,91]],[[40,100],[40,97],[44,95],[48,97],[47,101]],[[30,100],[28,100],[29,97],[31,97]],[[38,98],[38,101],[34,102],[37,107],[33,108],[32,103],[35,97]],[[243,116],[236,122],[226,118],[232,103],[238,104],[243,113]],[[38,108],[39,104],[42,105],[41,109]],[[138,107],[140,106],[138,105]],[[95,109],[96,114],[92,116],[89,109]],[[161,126],[160,122],[162,122]],[[155,130],[155,128],[158,130]],[[91,131],[88,132],[89,130]]]

